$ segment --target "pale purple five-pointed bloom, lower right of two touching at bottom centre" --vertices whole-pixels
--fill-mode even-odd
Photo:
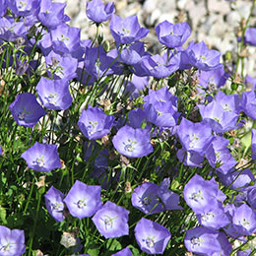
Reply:
[[[105,238],[114,238],[129,234],[128,215],[125,208],[107,201],[92,220]]]

